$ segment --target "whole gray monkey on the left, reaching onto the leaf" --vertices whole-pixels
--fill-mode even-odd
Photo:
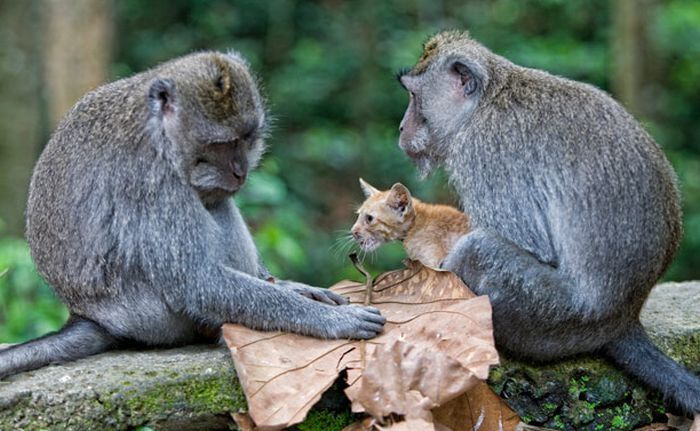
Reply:
[[[230,199],[265,130],[263,99],[234,52],[175,59],[83,97],[42,153],[27,208],[32,256],[71,319],[0,351],[0,378],[124,343],[211,339],[225,322],[376,336],[376,309],[266,281]]]

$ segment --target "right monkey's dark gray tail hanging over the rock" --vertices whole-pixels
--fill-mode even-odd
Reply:
[[[651,342],[641,324],[605,351],[630,374],[659,390],[685,413],[700,413],[700,378],[666,356]]]

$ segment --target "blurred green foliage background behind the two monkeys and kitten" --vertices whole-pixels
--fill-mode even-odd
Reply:
[[[655,74],[643,120],[679,174],[685,210],[684,241],[667,278],[698,279],[700,3],[650,4]],[[269,154],[236,200],[271,271],[316,285],[358,278],[340,239],[362,200],[358,176],[454,202],[443,173],[418,181],[396,145],[407,97],[393,75],[415,62],[431,33],[469,29],[516,63],[611,91],[607,0],[121,0],[116,8],[114,78],[193,50],[236,49],[249,59],[275,120]],[[367,261],[380,271],[403,256],[394,244]],[[56,327],[65,311],[34,277],[24,243],[0,242],[3,267],[0,341]]]

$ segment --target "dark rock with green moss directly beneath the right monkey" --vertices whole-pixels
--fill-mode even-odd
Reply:
[[[527,423],[558,430],[631,430],[664,420],[663,403],[605,360],[534,366],[503,359],[489,385]]]

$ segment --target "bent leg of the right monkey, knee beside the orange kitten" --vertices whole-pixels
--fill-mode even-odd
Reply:
[[[563,271],[495,233],[475,230],[462,237],[443,268],[489,296],[496,342],[518,356],[548,360],[587,352],[620,332],[605,315],[591,312],[592,295]]]

